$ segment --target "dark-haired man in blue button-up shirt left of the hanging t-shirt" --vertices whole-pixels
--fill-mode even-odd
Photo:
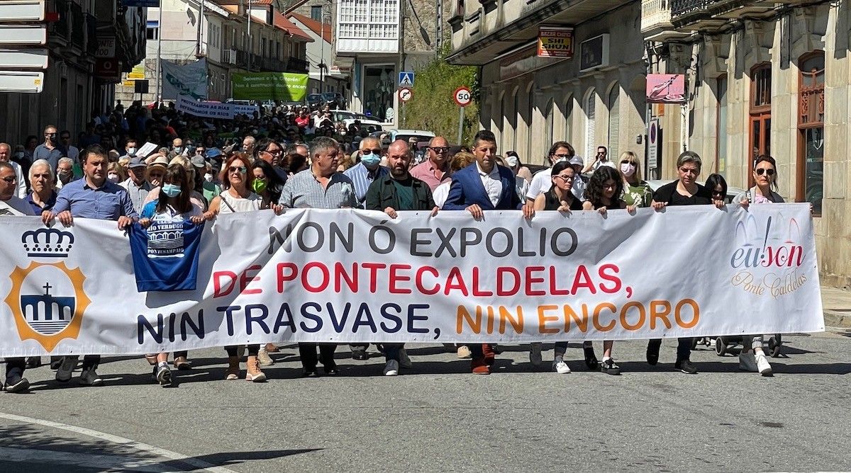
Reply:
[[[44,211],[42,219],[49,224],[54,218],[66,227],[70,227],[74,218],[97,218],[99,220],[115,220],[118,228],[123,229],[139,219],[133,208],[130,194],[117,183],[106,180],[106,166],[109,160],[106,149],[100,144],[92,144],[80,153],[83,165],[83,178],[68,183],[56,197],[56,205],[52,211]],[[100,379],[95,369],[100,363],[100,355],[83,357],[83,373],[80,374],[80,384],[83,386],[100,386]],[[71,373],[77,368],[77,357],[64,357],[60,368],[56,371],[56,380],[67,382]]]

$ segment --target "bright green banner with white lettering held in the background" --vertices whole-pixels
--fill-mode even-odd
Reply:
[[[237,72],[231,79],[233,99],[302,102],[308,77],[290,72]]]

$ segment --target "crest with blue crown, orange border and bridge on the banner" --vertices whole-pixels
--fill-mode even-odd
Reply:
[[[31,262],[9,275],[12,288],[6,304],[20,340],[35,340],[51,352],[60,341],[80,334],[83,313],[91,303],[83,292],[86,277],[64,261],[74,245],[73,234],[38,228],[21,234],[20,242]]]

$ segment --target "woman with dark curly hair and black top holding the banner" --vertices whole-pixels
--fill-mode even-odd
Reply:
[[[606,215],[609,209],[626,209],[629,212],[635,210],[635,206],[628,206],[620,196],[624,193],[624,179],[614,166],[600,166],[588,180],[585,187],[585,202],[582,210],[598,211]],[[603,341],[603,363],[599,363],[600,371],[606,374],[620,374],[620,366],[614,364],[612,358],[612,346],[614,341]],[[594,354],[594,346],[591,341],[583,344],[585,350],[585,365],[588,369],[597,369],[597,356]]]

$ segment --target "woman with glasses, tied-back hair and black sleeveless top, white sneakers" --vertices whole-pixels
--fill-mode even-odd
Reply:
[[[538,197],[535,197],[533,204],[534,211],[581,211],[582,202],[575,198],[574,194],[570,190],[574,186],[574,179],[579,178],[576,176],[574,166],[572,166],[569,161],[558,161],[552,166],[550,176],[552,180],[550,190],[543,194],[539,194]],[[591,347],[590,343],[591,342],[588,342],[589,347]],[[567,349],[567,341],[556,342],[556,347],[553,351],[552,370],[558,374],[570,373],[568,363],[564,363],[564,352],[567,352]],[[593,347],[591,347],[592,353],[593,350]],[[540,352],[540,342],[533,343],[531,345],[531,350],[529,351],[529,361],[531,361],[534,366],[538,366],[542,363]],[[595,368],[597,367],[596,361],[597,358],[595,358]]]

